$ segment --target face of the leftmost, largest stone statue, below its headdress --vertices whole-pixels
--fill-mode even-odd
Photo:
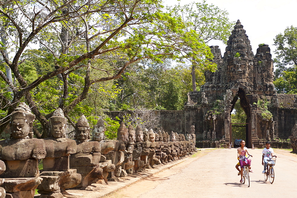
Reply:
[[[14,139],[22,139],[29,135],[31,128],[33,127],[33,122],[29,124],[26,120],[23,119],[15,119],[11,121],[10,130],[12,133],[12,137]]]

